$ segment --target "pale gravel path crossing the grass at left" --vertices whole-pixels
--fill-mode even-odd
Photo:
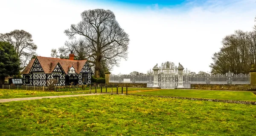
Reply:
[[[105,94],[105,93],[104,93]],[[21,100],[36,100],[43,98],[62,98],[62,97],[77,97],[77,96],[88,96],[88,95],[101,95],[101,94],[75,94],[75,95],[60,95],[60,96],[43,96],[43,97],[27,97],[27,98],[14,98],[14,99],[0,99],[0,103],[21,101]]]

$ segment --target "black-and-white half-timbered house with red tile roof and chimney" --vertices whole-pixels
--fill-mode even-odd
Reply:
[[[87,60],[48,58],[37,56],[21,72],[23,83],[28,86],[64,86],[91,83],[92,69]]]

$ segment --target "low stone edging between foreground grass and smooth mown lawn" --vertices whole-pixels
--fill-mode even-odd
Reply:
[[[172,97],[172,96],[141,95],[141,94],[120,94],[120,95],[136,95],[136,96],[146,96],[146,97],[162,97],[162,98],[175,98],[175,99],[184,99],[184,100],[201,100],[201,101],[211,101],[211,102],[223,102],[223,103],[237,103],[237,104],[256,105],[256,102],[253,102],[253,101],[241,101],[241,100],[219,100],[219,99]]]

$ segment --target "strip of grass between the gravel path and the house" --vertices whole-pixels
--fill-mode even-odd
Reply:
[[[128,88],[128,91],[134,90],[145,90],[147,88]],[[118,92],[121,93],[122,88],[118,88]],[[111,92],[111,88],[108,88],[108,92]],[[40,97],[40,96],[57,96],[57,95],[70,95],[76,94],[78,92],[90,93],[89,90],[85,91],[72,91],[72,92],[43,92],[43,91],[26,91],[26,90],[12,90],[12,89],[0,89],[0,99],[9,99],[9,98],[24,98],[24,97]],[[95,93],[95,89],[91,90],[92,93]],[[100,93],[100,89],[97,89],[97,93]],[[106,92],[106,89],[102,89],[102,92]],[[113,88],[113,92],[116,92],[116,87]],[[126,88],[123,88],[123,93],[126,93]]]

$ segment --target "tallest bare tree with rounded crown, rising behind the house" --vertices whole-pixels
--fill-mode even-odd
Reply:
[[[81,13],[82,20],[64,31],[70,39],[79,36],[84,41],[85,59],[95,64],[95,77],[100,77],[100,62],[119,65],[121,58],[127,58],[129,36],[119,26],[110,10],[94,9]]]

